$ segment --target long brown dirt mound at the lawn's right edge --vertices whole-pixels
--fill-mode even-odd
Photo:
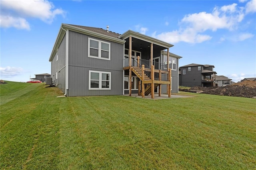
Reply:
[[[202,93],[236,97],[256,97],[256,81],[243,81],[224,87],[206,90]]]

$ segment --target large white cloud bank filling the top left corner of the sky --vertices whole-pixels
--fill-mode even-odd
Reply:
[[[1,0],[1,27],[29,30],[27,18],[38,18],[51,24],[56,15],[64,16],[64,13],[60,8],[54,9],[53,3],[48,0]],[[6,21],[6,18],[12,19],[12,22]]]

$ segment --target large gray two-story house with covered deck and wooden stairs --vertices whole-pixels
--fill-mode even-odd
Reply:
[[[173,45],[132,30],[61,24],[49,61],[52,84],[65,96],[178,93]]]

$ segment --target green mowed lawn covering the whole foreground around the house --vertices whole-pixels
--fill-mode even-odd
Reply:
[[[256,99],[58,97],[0,85],[0,169],[256,169]]]

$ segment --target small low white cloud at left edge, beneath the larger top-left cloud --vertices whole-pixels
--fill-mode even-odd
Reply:
[[[14,18],[12,16],[1,16],[0,24],[1,24],[1,27],[4,27],[4,28],[14,27],[17,29],[30,30],[30,26],[28,22],[24,18],[20,18],[20,17]]]

